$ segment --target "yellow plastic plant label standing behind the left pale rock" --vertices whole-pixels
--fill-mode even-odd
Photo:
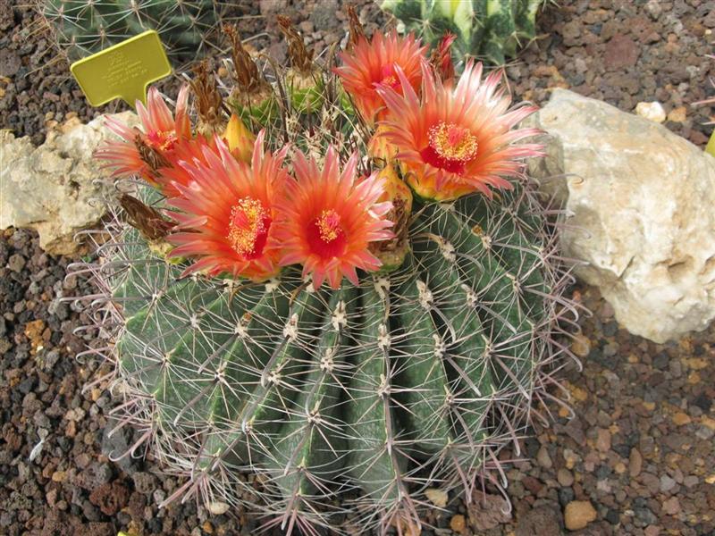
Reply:
[[[72,63],[70,70],[90,105],[121,98],[134,106],[138,99],[147,104],[147,86],[169,76],[172,66],[159,35],[149,29]]]

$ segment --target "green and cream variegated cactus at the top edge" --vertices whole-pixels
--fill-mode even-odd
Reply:
[[[381,7],[427,43],[446,32],[457,36],[453,50],[502,65],[517,46],[535,36],[535,18],[544,0],[383,0]]]

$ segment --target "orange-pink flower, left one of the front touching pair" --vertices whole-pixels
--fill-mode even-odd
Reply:
[[[178,209],[172,217],[180,232],[167,239],[176,247],[172,257],[195,257],[185,273],[221,273],[255,281],[280,271],[280,250],[272,246],[276,206],[288,172],[283,168],[287,147],[265,151],[262,131],[250,165],[238,161],[221,139],[216,151],[205,147],[203,160],[180,162],[191,181],[174,183],[181,197],[169,200]]]

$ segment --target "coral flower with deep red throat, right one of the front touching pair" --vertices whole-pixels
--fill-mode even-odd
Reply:
[[[343,277],[357,285],[357,269],[373,272],[382,263],[370,253],[372,242],[391,239],[392,222],[385,216],[390,201],[383,196],[384,179],[373,174],[357,181],[357,155],[340,170],[330,147],[323,170],[302,153],[294,162],[296,180],[286,183],[279,203],[275,242],[282,252],[280,264],[302,264],[303,277],[312,275],[315,289],[327,279],[333,289]]]

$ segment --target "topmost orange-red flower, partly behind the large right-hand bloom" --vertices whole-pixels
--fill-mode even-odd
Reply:
[[[387,36],[375,33],[369,41],[360,37],[349,52],[341,52],[339,56],[343,64],[334,72],[341,77],[357,111],[370,125],[387,114],[377,87],[386,85],[400,93],[403,87],[419,88],[420,65],[426,61],[425,46],[420,46],[411,34],[401,38],[395,31]],[[402,71],[402,78],[397,76],[396,67]]]

